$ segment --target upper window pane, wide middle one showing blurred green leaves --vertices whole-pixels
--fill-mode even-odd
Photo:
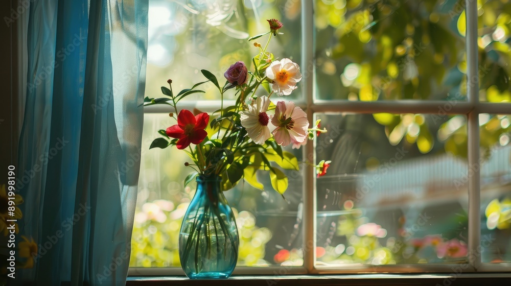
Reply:
[[[465,100],[464,2],[315,1],[317,98]]]

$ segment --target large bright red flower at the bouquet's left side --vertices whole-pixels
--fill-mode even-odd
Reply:
[[[199,113],[193,116],[193,113],[183,109],[177,115],[177,124],[167,128],[167,136],[179,139],[177,141],[177,149],[184,149],[192,144],[200,144],[207,136],[204,130],[210,115],[207,113]]]

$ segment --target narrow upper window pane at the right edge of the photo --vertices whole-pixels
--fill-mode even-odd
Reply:
[[[484,4],[482,4],[484,3]],[[504,0],[478,2],[479,99],[511,102],[511,3]]]

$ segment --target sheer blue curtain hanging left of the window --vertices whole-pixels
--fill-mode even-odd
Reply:
[[[37,247],[19,257],[25,269],[15,281],[124,285],[140,168],[148,0],[27,3],[18,241]]]

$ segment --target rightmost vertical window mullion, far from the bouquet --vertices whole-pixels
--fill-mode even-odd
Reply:
[[[479,106],[477,1],[466,0],[467,15],[467,97]],[[479,114],[477,109],[468,114],[468,160],[469,160],[469,263],[477,271],[481,265],[481,217],[480,217],[480,163],[479,163]]]

